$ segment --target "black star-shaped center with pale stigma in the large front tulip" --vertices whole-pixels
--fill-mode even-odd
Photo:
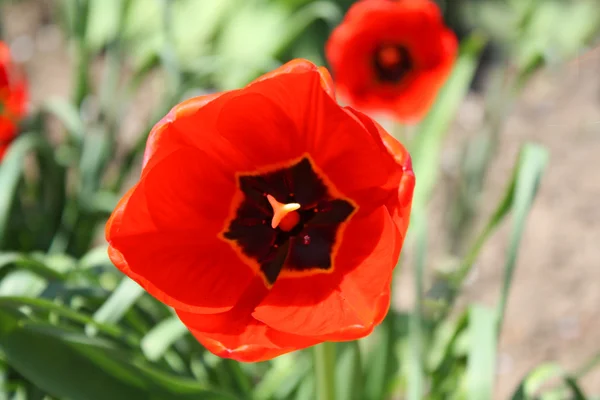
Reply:
[[[333,268],[338,230],[356,207],[331,194],[307,157],[267,173],[240,175],[238,184],[244,198],[223,237],[258,263],[269,284],[282,270]],[[275,203],[295,206],[279,220]]]

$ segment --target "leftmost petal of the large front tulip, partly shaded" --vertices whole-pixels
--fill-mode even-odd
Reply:
[[[221,175],[197,150],[181,149],[127,193],[107,224],[113,262],[171,306],[231,309],[255,276],[218,237],[235,191]]]

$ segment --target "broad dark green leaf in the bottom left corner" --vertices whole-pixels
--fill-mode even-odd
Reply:
[[[9,365],[53,397],[77,400],[232,399],[135,361],[109,343],[0,308],[0,349]]]

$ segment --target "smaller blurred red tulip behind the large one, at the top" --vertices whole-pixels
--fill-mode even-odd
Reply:
[[[404,122],[427,113],[456,52],[456,37],[430,0],[359,1],[326,47],[338,91],[353,106]]]

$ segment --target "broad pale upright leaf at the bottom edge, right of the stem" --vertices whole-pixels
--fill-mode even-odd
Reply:
[[[484,306],[469,309],[467,399],[491,399],[496,375],[496,312]]]

